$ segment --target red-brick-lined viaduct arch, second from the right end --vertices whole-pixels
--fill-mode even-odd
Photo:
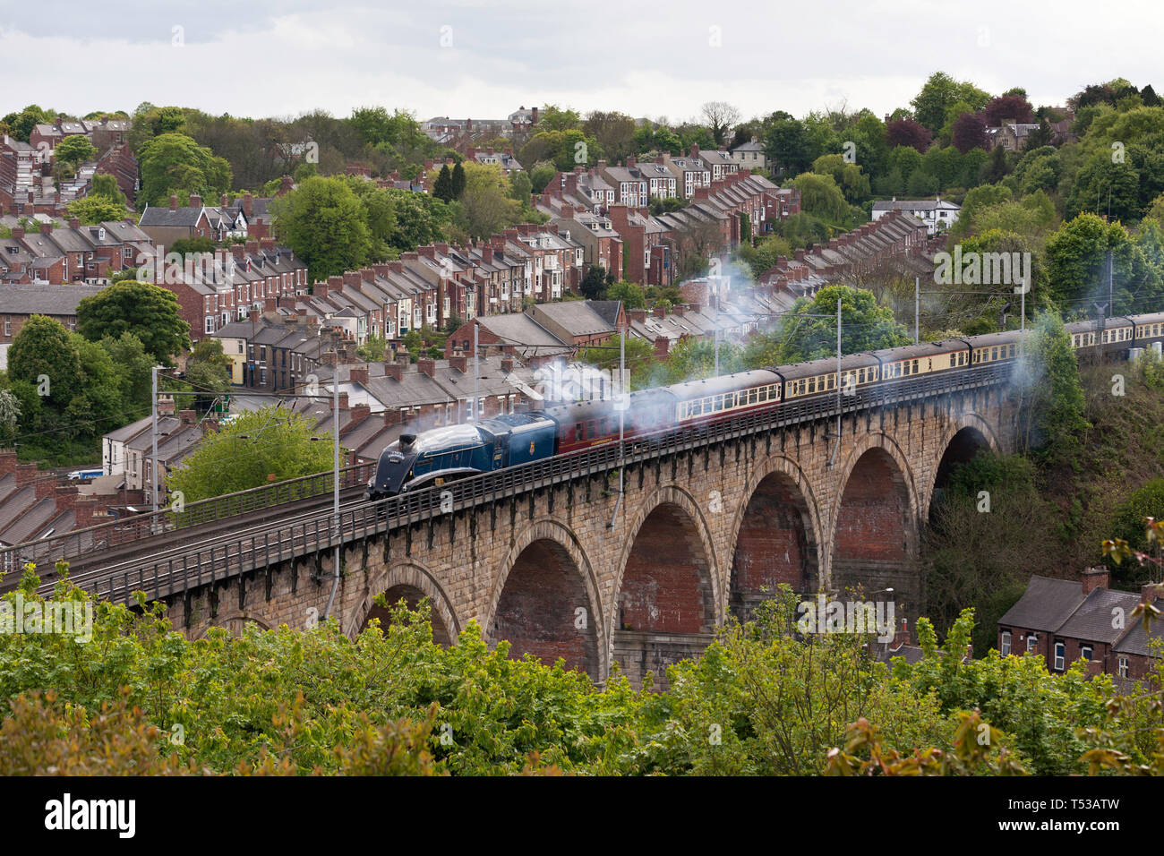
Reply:
[[[875,432],[857,441],[838,472],[829,515],[829,566],[822,578],[833,588],[850,585],[853,565],[861,563],[857,575],[866,590],[889,581],[895,597],[915,600],[920,582],[910,565],[917,557],[920,503],[909,459],[893,437]],[[854,518],[861,509],[864,518]]]

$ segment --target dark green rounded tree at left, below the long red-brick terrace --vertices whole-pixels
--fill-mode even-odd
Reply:
[[[172,291],[146,282],[119,282],[77,304],[77,332],[90,341],[136,335],[158,363],[172,365],[190,347],[190,325]]]

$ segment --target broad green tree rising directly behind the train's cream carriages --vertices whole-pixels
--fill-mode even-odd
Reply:
[[[840,299],[842,353],[909,345],[913,339],[879,306],[872,291],[825,285],[811,299],[800,298],[781,326],[748,340],[744,361],[750,368],[817,360],[837,353],[837,300]]]

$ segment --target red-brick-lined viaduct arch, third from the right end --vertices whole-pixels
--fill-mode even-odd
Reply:
[[[745,620],[755,601],[764,597],[760,586],[771,589],[788,582],[797,590],[808,590],[817,585],[824,568],[825,539],[812,486],[789,458],[764,458],[748,475],[741,500],[731,528],[728,606]],[[761,554],[774,556],[776,561],[758,561]],[[802,566],[812,579],[802,579]]]

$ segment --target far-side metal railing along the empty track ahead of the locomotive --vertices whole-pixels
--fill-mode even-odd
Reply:
[[[375,467],[374,462],[342,467],[340,486],[348,488],[365,483],[375,472]],[[182,511],[164,508],[98,523],[85,529],[74,529],[35,542],[23,542],[0,550],[0,571],[19,572],[23,563],[33,561],[42,567],[43,574],[44,566],[55,565],[57,561],[74,559],[165,532],[203,526],[229,517],[253,515],[276,505],[324,496],[332,491],[334,479],[333,471],[313,473],[190,502]]]

